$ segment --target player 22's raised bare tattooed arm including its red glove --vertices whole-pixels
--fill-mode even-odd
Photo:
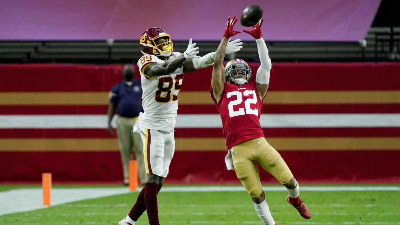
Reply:
[[[224,90],[225,82],[225,68],[224,68],[224,58],[226,53],[226,44],[228,44],[229,39],[240,33],[241,31],[233,31],[233,25],[236,24],[238,19],[234,16],[232,20],[230,16],[228,17],[228,25],[224,32],[224,37],[222,38],[220,45],[217,48],[215,58],[214,58],[214,68],[212,68],[211,86],[214,94],[214,98],[218,103],[220,101],[222,92]]]

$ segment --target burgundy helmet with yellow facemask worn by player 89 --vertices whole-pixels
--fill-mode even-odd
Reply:
[[[157,38],[166,38],[168,41],[162,44],[156,45],[155,40]],[[159,49],[162,45],[162,49]],[[153,27],[146,30],[142,38],[140,38],[140,51],[144,55],[161,55],[170,56],[171,52],[174,51],[174,46],[172,45],[171,36],[169,36],[164,30],[158,27]]]

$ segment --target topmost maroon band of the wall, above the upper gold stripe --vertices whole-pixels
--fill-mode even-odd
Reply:
[[[256,76],[260,63],[249,66]],[[123,79],[122,69],[117,64],[0,64],[0,84],[7,84],[0,91],[110,91]],[[278,62],[272,63],[268,90],[399,90],[394,74],[400,74],[400,62]],[[184,74],[181,91],[209,91],[211,75],[212,66]]]

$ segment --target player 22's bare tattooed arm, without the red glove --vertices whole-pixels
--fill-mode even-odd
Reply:
[[[228,39],[223,37],[220,45],[216,51],[214,58],[214,67],[212,68],[211,86],[214,93],[214,98],[218,102],[221,98],[222,91],[224,90],[225,69],[224,69],[224,58],[226,51],[226,44]]]

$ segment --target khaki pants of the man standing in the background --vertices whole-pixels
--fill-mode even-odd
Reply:
[[[119,117],[117,121],[118,144],[120,147],[124,183],[129,183],[129,161],[132,158],[132,148],[138,161],[138,176],[140,183],[146,183],[146,165],[144,164],[143,142],[139,133],[132,133],[133,125],[138,117]]]

